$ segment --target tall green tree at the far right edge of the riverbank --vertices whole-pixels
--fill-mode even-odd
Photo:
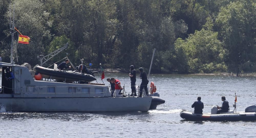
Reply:
[[[216,19],[220,40],[227,49],[226,62],[238,66],[255,62],[256,4],[252,0],[231,2]]]

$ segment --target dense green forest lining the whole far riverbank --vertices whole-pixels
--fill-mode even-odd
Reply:
[[[10,6],[11,5],[11,6]],[[75,65],[153,73],[256,72],[255,0],[0,0],[0,56],[10,62],[10,11],[31,39],[16,64],[39,64],[67,42]],[[17,34],[15,34],[16,36]]]

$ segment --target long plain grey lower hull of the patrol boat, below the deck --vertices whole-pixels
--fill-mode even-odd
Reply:
[[[1,98],[1,108],[12,112],[121,112],[150,108],[152,98]]]

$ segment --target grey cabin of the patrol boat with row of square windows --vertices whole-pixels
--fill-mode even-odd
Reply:
[[[6,80],[6,68],[14,75],[14,79]],[[0,97],[14,98],[103,98],[111,97],[108,86],[64,83],[54,79],[35,80],[29,68],[25,66],[0,62],[1,93]]]

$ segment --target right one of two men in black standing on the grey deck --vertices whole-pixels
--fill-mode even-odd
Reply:
[[[145,71],[143,71],[143,68],[139,68],[140,71],[140,78],[142,79],[141,81],[141,86],[140,86],[140,96],[138,97],[142,97],[142,90],[143,88],[145,89],[146,95],[148,96],[148,90],[147,90],[147,84],[148,84],[148,80],[147,80],[147,73]]]

